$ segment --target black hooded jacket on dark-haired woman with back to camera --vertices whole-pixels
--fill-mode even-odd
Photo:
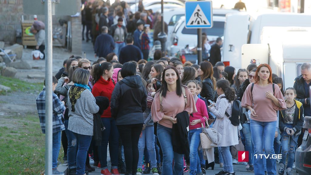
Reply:
[[[111,116],[116,125],[144,123],[142,113],[147,107],[147,92],[139,75],[127,76],[114,87],[111,96]]]

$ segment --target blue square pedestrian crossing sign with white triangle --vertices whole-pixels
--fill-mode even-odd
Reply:
[[[186,28],[212,28],[211,1],[186,1]]]

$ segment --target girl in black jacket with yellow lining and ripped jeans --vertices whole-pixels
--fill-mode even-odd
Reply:
[[[295,149],[297,146],[298,136],[301,133],[301,128],[304,123],[304,107],[302,103],[295,100],[296,91],[293,87],[288,87],[285,90],[286,108],[279,111],[279,127],[281,130],[281,145],[282,159],[280,163],[279,174],[283,175],[285,170],[286,156],[288,161],[286,167],[286,175],[291,175],[293,163],[295,159]],[[288,148],[288,140],[289,148]]]

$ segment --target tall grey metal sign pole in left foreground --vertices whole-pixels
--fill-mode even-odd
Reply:
[[[52,0],[45,7],[45,174],[52,175],[53,109],[52,109]]]

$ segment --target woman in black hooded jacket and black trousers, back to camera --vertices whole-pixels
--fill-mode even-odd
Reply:
[[[125,175],[132,175],[137,171],[138,140],[144,123],[142,113],[147,106],[147,92],[133,63],[123,64],[121,75],[123,79],[114,87],[110,107],[124,146]]]

